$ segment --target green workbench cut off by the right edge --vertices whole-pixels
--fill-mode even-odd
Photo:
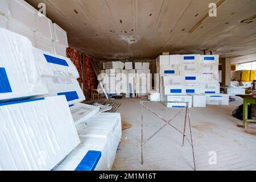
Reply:
[[[248,105],[256,104],[256,97],[253,97],[249,94],[236,96],[241,97],[243,99],[243,127],[247,129],[248,123],[256,122],[256,120],[254,119],[248,119]]]

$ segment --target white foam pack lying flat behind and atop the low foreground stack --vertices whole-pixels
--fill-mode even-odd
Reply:
[[[86,122],[89,118],[100,111],[100,107],[77,103],[69,106],[75,125]]]

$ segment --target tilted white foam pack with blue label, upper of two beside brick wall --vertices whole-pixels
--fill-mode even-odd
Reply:
[[[33,53],[38,63],[41,76],[79,78],[79,72],[68,57],[34,48]]]

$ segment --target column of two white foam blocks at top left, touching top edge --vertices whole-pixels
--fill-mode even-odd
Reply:
[[[11,0],[9,2],[10,16],[7,21],[7,28],[10,31],[26,36],[35,46],[36,20],[38,13],[34,7],[23,0]]]

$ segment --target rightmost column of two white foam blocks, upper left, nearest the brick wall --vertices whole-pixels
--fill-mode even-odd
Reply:
[[[68,37],[67,32],[63,30],[59,25],[53,23],[53,49],[56,55],[66,56],[66,49],[68,47]]]

